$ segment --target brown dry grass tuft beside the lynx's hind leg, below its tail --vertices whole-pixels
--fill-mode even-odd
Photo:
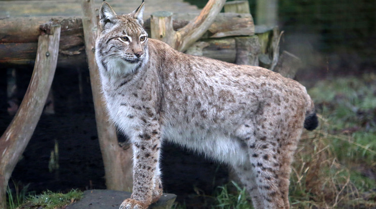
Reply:
[[[322,118],[322,117],[320,117]],[[325,124],[321,121],[320,124]],[[304,132],[295,162],[290,186],[293,208],[371,208],[374,200],[362,198],[350,180],[350,170],[341,165],[333,151],[331,135],[324,128]],[[346,151],[346,150],[344,150]],[[371,150],[372,151],[372,150]]]

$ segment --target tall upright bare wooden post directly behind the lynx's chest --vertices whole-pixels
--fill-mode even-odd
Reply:
[[[108,189],[131,191],[132,189],[132,149],[123,149],[118,145],[115,127],[109,122],[102,96],[102,85],[95,59],[95,41],[97,37],[97,17],[92,0],[81,0],[85,51],[89,66],[90,84],[96,114],[99,144],[105,166],[106,186]]]

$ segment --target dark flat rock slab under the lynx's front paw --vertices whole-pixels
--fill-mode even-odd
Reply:
[[[114,190],[86,190],[81,200],[68,205],[66,209],[114,209],[119,208],[124,199],[129,198],[130,192]],[[153,209],[169,209],[174,203],[175,194],[163,194],[158,202],[150,205]]]

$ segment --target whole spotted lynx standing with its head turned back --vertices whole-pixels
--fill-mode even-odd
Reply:
[[[162,195],[163,140],[232,167],[255,208],[289,208],[291,162],[317,117],[305,87],[261,67],[185,55],[148,38],[144,3],[100,9],[96,60],[110,119],[133,149],[133,192],[120,208]]]

